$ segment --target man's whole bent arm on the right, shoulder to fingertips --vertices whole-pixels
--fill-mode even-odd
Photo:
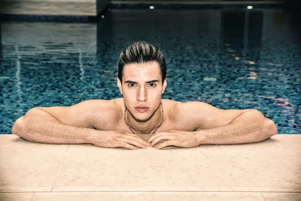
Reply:
[[[153,147],[165,140],[156,149],[167,146],[196,147],[201,144],[244,144],[261,142],[277,134],[274,122],[257,110],[220,110],[201,102],[179,103],[176,120],[185,119],[190,131],[167,131],[150,137],[147,142]]]

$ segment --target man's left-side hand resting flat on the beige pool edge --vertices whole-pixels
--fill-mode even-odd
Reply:
[[[101,133],[93,135],[91,143],[98,147],[124,147],[127,149],[137,149],[137,147],[145,149],[149,145],[136,134],[123,131],[101,131]]]

